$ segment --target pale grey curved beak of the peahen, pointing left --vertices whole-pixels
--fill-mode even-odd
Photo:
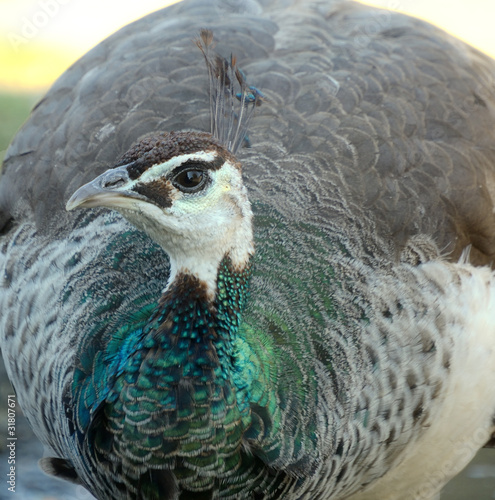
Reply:
[[[129,189],[127,165],[103,172],[96,179],[81,186],[69,199],[66,210],[74,208],[129,208],[129,199],[140,199],[135,191]]]

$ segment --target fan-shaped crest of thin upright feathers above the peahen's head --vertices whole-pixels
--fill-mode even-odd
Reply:
[[[246,83],[237,67],[236,57],[230,62],[213,53],[211,30],[202,29],[196,40],[206,61],[210,81],[211,134],[235,154],[244,140],[254,109],[264,100],[263,94]]]

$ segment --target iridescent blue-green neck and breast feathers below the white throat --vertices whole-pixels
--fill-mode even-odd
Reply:
[[[303,375],[270,336],[241,324],[252,260],[240,268],[225,256],[213,299],[197,276],[177,273],[158,303],[132,321],[127,316],[106,341],[85,346],[72,387],[75,426],[81,443],[91,436],[97,461],[96,444],[106,443],[112,463],[133,470],[159,461],[188,478],[184,487],[200,491],[213,488],[215,475],[264,484],[270,472],[262,462],[287,463],[314,449],[313,423],[292,429],[281,412],[310,407],[306,391],[283,396]]]

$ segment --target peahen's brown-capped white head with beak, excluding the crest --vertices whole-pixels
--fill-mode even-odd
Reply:
[[[115,209],[145,231],[169,255],[171,279],[187,272],[214,288],[225,256],[243,268],[253,253],[240,163],[209,133],[141,140],[67,202],[68,210],[81,207]]]

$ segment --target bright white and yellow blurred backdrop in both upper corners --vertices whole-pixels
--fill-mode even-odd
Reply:
[[[176,0],[177,1],[177,0]],[[40,92],[108,35],[170,0],[0,0],[0,90]],[[495,0],[370,0],[495,56]]]

